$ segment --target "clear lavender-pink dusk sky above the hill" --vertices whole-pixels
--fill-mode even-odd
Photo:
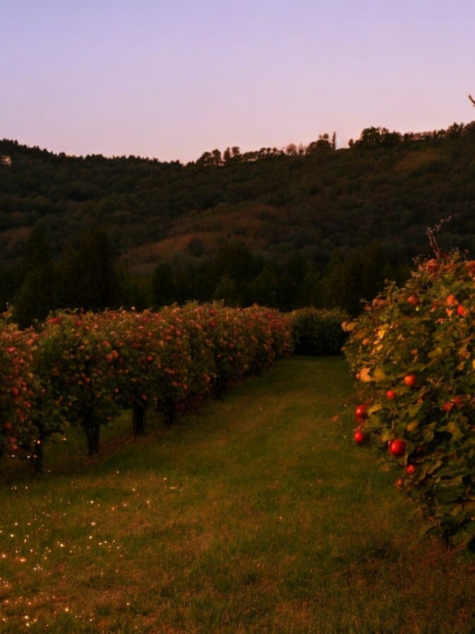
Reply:
[[[188,162],[475,119],[474,0],[0,0],[0,138]]]

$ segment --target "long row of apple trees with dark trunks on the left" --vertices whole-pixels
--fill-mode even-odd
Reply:
[[[30,453],[41,469],[42,446],[74,425],[89,455],[99,430],[133,408],[134,432],[147,407],[165,412],[257,374],[291,353],[289,316],[258,306],[166,307],[159,313],[62,312],[36,330],[0,327],[0,454]]]

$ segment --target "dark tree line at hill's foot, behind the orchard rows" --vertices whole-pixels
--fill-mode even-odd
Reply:
[[[11,300],[12,318],[26,328],[58,309],[102,311],[124,307],[158,309],[189,301],[253,304],[291,311],[305,306],[338,307],[350,314],[381,290],[386,278],[405,274],[391,268],[379,243],[349,257],[335,251],[320,271],[299,252],[285,266],[266,262],[243,242],[230,240],[202,266],[174,267],[158,262],[151,277],[137,277],[120,263],[104,228],[87,230],[54,259],[41,230],[28,241],[22,280]],[[7,304],[4,304],[4,308]]]

